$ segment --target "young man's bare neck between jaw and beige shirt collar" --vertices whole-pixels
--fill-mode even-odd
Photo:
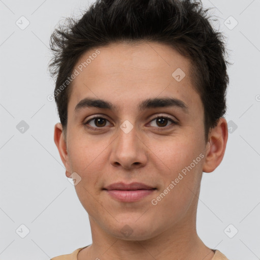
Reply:
[[[210,260],[214,255],[197,234],[196,218],[193,222],[184,220],[153,238],[141,241],[115,238],[105,233],[91,217],[89,220],[92,244],[79,252],[78,260]]]

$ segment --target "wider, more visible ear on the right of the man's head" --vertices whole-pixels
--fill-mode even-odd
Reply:
[[[227,141],[228,123],[225,118],[220,117],[217,125],[211,129],[209,134],[203,172],[211,173],[220,165],[224,156]]]

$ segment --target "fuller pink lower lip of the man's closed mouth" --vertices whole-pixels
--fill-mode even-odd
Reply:
[[[135,202],[139,201],[146,196],[150,195],[155,189],[137,189],[137,190],[106,190],[108,194],[122,202]]]

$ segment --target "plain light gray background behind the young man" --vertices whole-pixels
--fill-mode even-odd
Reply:
[[[88,215],[53,141],[59,122],[55,103],[47,100],[54,90],[47,71],[51,32],[59,20],[78,16],[89,4],[0,1],[1,260],[47,260],[92,243]],[[234,64],[227,96],[229,140],[220,166],[204,173],[198,233],[231,260],[260,259],[260,1],[203,4],[214,7],[215,26],[227,37]],[[29,21],[25,29],[19,27],[26,25],[21,16]],[[24,133],[22,120],[29,126]]]

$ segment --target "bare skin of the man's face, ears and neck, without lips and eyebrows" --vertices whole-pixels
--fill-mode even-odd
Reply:
[[[228,139],[228,126],[221,117],[204,139],[203,104],[192,86],[190,62],[160,43],[113,43],[98,48],[100,54],[73,80],[68,105],[67,136],[55,125],[54,141],[67,169],[81,181],[75,186],[89,215],[91,246],[78,254],[83,259],[212,259],[214,251],[197,235],[196,214],[202,172],[212,172],[221,163]],[[94,53],[88,50],[75,68]],[[172,73],[181,68],[180,81]],[[152,108],[140,112],[137,105],[147,98],[173,97],[188,106],[189,113],[176,107]],[[86,97],[99,98],[119,107],[118,111],[85,108],[74,113]],[[88,123],[93,115],[107,119]],[[163,131],[154,119],[170,116]],[[133,129],[125,134],[120,125],[128,120]],[[165,124],[165,125],[166,125]],[[103,127],[101,127],[101,126]],[[181,170],[200,154],[204,158],[158,202]],[[109,184],[143,182],[156,190],[138,202],[119,202],[103,188]],[[128,225],[132,234],[120,231]]]

